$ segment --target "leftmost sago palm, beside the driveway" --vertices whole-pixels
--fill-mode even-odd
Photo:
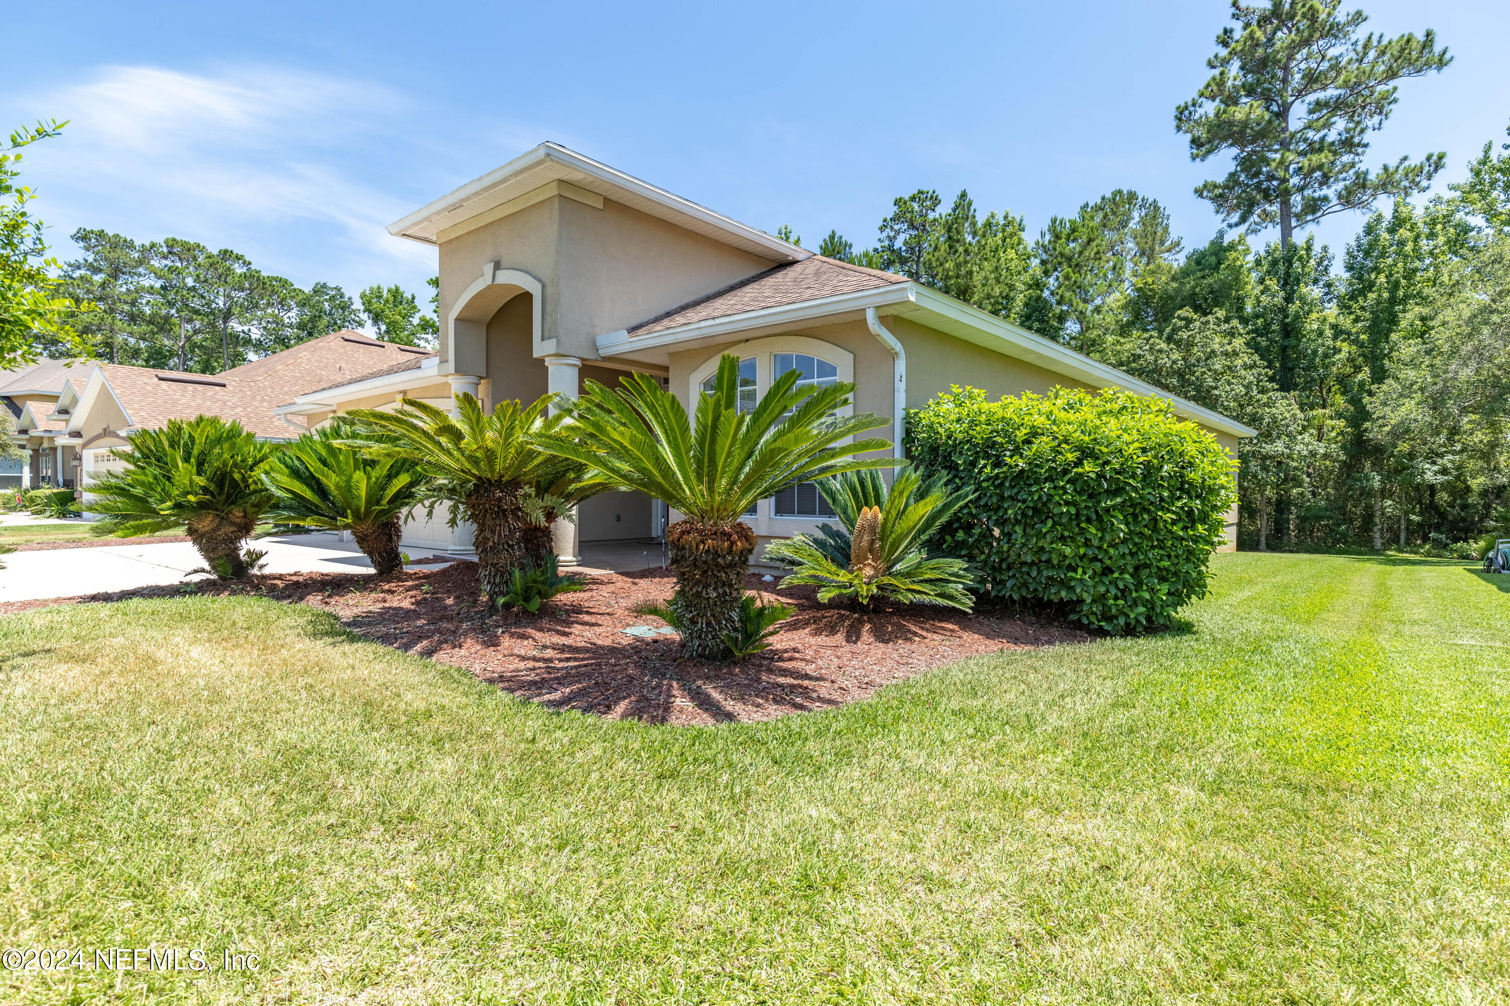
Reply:
[[[242,543],[272,505],[263,469],[278,452],[219,416],[169,419],[128,437],[125,469],[89,484],[95,532],[134,537],[183,529],[222,579],[246,575]]]

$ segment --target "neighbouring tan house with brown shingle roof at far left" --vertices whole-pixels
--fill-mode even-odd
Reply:
[[[199,415],[236,419],[264,440],[291,440],[305,427],[278,406],[332,379],[359,380],[396,363],[433,356],[359,332],[332,332],[220,374],[76,362],[53,401],[29,401],[17,440],[32,452],[32,484],[77,486],[88,510],[89,480],[118,471],[118,449],[136,430]]]

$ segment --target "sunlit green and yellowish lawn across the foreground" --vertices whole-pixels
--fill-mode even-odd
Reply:
[[[1510,1001],[1499,581],[1216,572],[1187,635],[716,728],[263,600],[0,618],[0,943],[263,962],[0,1001]]]

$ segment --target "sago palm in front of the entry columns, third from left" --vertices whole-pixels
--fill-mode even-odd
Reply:
[[[507,594],[513,567],[536,549],[548,547],[542,522],[548,525],[590,492],[578,486],[581,465],[563,465],[562,457],[539,446],[560,436],[563,416],[548,415],[550,403],[550,395],[532,406],[500,401],[489,415],[477,398],[462,394],[456,395],[456,418],[414,398],[405,398],[396,412],[347,413],[384,434],[373,439],[358,434],[349,443],[373,457],[420,466],[433,480],[426,502],[451,504],[453,528],[461,517],[473,523],[479,581],[489,605]]]

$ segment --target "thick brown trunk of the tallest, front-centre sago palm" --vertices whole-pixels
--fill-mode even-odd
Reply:
[[[666,528],[666,544],[676,570],[672,608],[683,653],[719,659],[725,655],[723,633],[738,626],[755,532],[740,522],[678,520]]]

